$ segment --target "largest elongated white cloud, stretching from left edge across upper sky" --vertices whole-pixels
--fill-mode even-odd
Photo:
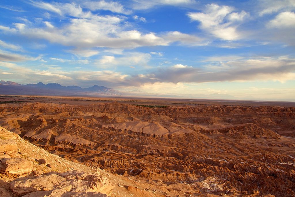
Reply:
[[[168,45],[169,41],[155,33],[143,34],[137,30],[124,30],[119,23],[122,18],[97,16],[96,19],[74,18],[61,28],[22,28],[3,27],[10,33],[19,33],[34,39],[46,39],[78,49],[93,47],[136,48],[140,46]],[[1,27],[0,27],[1,29]]]

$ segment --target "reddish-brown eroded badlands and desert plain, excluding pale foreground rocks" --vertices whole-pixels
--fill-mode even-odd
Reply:
[[[50,169],[36,164],[35,176],[53,170],[72,183],[73,173],[98,173],[92,176],[108,189],[89,191],[109,196],[295,196],[292,102],[40,96],[0,102],[0,126],[65,163],[47,159]],[[21,157],[17,152],[10,157]],[[21,196],[13,190],[21,181],[9,183],[14,178],[3,171],[1,184]]]

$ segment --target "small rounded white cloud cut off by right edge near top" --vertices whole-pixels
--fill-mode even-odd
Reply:
[[[295,28],[295,13],[281,12],[267,26],[270,28]]]

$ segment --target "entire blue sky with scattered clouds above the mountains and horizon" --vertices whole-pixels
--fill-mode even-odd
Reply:
[[[1,0],[0,78],[294,100],[294,0]]]

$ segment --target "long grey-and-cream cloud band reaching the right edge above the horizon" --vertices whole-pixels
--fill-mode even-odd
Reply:
[[[137,75],[128,82],[137,86],[154,83],[207,83],[294,80],[295,59],[287,56],[260,57],[228,62],[216,62],[202,67],[176,64],[162,67],[149,74]]]

